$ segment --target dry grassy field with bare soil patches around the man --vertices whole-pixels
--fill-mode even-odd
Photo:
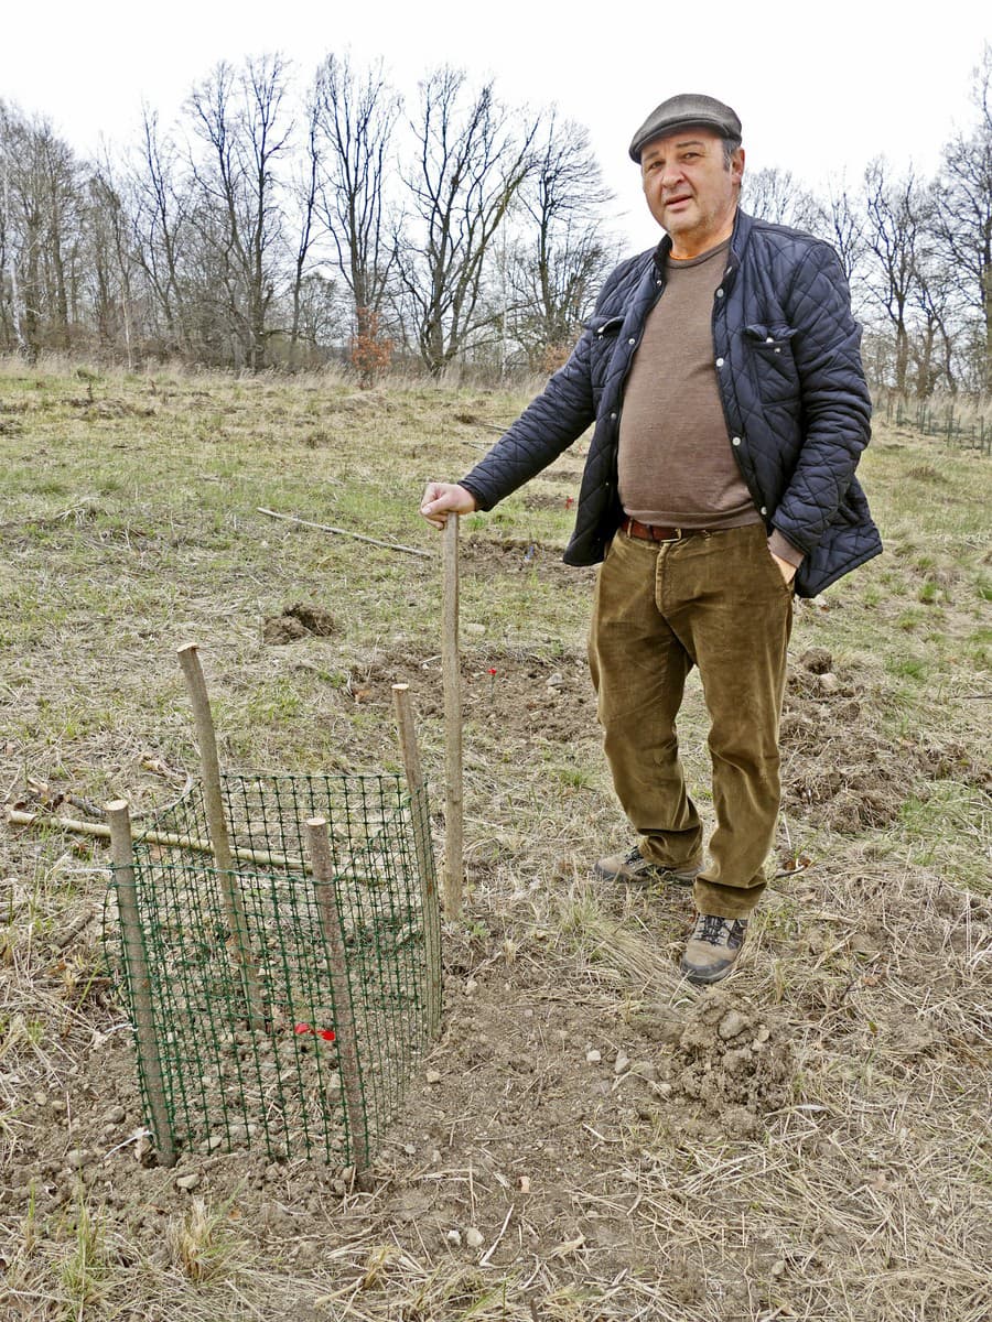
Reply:
[[[409,682],[438,824],[439,541],[417,505],[524,402],[0,366],[7,806],[173,798],[196,641],[234,769],[399,769]],[[590,875],[628,833],[585,666],[594,571],[559,561],[583,452],[463,524],[468,896],[370,1192],[303,1159],[136,1159],[107,853],[5,828],[0,1315],[992,1315],[992,460],[880,426],[886,554],[798,607],[776,875],[742,966],[697,997],[689,895]],[[292,625],[315,609],[319,633]],[[704,810],[705,740],[690,685]]]

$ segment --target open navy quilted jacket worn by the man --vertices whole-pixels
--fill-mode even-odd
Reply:
[[[671,241],[623,262],[565,366],[462,485],[491,509],[590,423],[569,564],[595,564],[623,518],[616,447],[623,387],[665,287]],[[737,213],[713,304],[713,358],[734,456],[765,518],[803,551],[795,590],[815,596],[877,555],[854,477],[872,403],[837,254],[820,239]]]

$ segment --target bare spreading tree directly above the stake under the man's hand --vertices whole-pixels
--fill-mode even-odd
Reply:
[[[470,93],[462,70],[442,67],[421,83],[411,127],[418,161],[405,182],[418,233],[398,243],[398,271],[438,374],[492,321],[480,308],[485,259],[532,167],[537,124],[512,124],[491,82]]]

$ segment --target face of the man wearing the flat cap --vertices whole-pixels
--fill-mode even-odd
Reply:
[[[675,256],[698,256],[729,238],[742,173],[743,149],[738,147],[727,169],[723,139],[709,128],[684,128],[644,147],[644,197],[671,234]]]

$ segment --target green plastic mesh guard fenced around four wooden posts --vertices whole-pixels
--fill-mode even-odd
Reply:
[[[222,776],[233,878],[257,970],[261,1019],[231,957],[222,876],[209,853],[202,787],[135,836],[134,880],[164,1113],[176,1149],[265,1146],[274,1159],[353,1165],[370,1154],[436,1026],[436,906],[426,791],[394,776]],[[325,817],[347,976],[335,977],[304,822]],[[419,826],[418,850],[415,826]],[[151,843],[155,834],[181,845]],[[419,862],[418,862],[419,861]],[[421,870],[430,871],[422,878]],[[119,869],[114,890],[119,888]],[[134,977],[112,925],[115,962]],[[341,1023],[353,1021],[360,1105],[349,1105]],[[434,1023],[431,1021],[435,1021]],[[139,1050],[148,1125],[161,1147]],[[151,1071],[155,1087],[155,1071]],[[356,1110],[358,1112],[356,1114]],[[163,1108],[159,1108],[161,1124]]]

